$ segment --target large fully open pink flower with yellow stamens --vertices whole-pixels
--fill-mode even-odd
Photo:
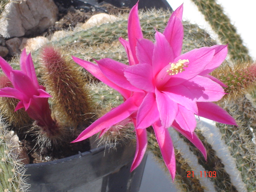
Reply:
[[[132,8],[128,18],[128,41],[120,38],[129,66],[109,58],[96,61],[96,65],[73,57],[75,62],[124,97],[123,104],[96,120],[74,142],[129,118],[134,123],[137,138],[131,168],[134,170],[146,150],[146,128],[152,126],[164,162],[174,179],[175,155],[168,132],[170,126],[186,136],[206,158],[206,150],[194,133],[195,115],[236,125],[225,110],[212,103],[225,93],[224,84],[209,73],[226,58],[227,46],[203,47],[181,54],[182,10],[181,5],[173,12],[163,33],[156,31],[153,43],[143,38],[138,3]]]

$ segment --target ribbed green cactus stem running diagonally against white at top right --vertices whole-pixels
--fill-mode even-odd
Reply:
[[[216,0],[192,0],[200,12],[204,14],[216,32],[222,44],[228,44],[228,50],[232,60],[248,61],[252,58],[248,54],[248,49],[243,45],[242,38],[236,32],[236,28],[231,24],[230,19],[223,12],[223,8],[216,3]]]

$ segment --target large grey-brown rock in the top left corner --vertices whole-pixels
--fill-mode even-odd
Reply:
[[[57,21],[58,7],[53,0],[16,0],[6,5],[0,18],[4,38],[42,33]]]

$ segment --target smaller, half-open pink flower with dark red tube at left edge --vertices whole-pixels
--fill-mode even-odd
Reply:
[[[0,67],[4,74],[12,82],[12,87],[0,89],[1,97],[17,98],[20,102],[15,111],[25,108],[30,118],[36,120],[47,134],[54,134],[56,122],[52,120],[48,98],[50,95],[45,91],[44,86],[39,85],[31,55],[22,51],[20,56],[21,70],[14,70],[8,62],[0,57]]]

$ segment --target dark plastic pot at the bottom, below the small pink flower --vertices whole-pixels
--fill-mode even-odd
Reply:
[[[46,163],[27,164],[31,192],[138,192],[146,156],[133,172],[136,147],[99,148]]]

